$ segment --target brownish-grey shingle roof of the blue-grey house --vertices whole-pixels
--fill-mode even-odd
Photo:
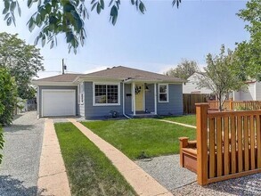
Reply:
[[[145,81],[169,81],[169,82],[184,82],[184,79],[174,78],[163,74],[157,74],[141,69],[132,69],[124,66],[104,69],[89,74],[63,74],[49,78],[38,79],[43,82],[73,82],[77,77],[84,78],[120,78],[120,79],[134,79]]]

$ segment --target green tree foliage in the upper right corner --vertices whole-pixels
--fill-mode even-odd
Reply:
[[[235,69],[242,78],[261,79],[261,1],[250,0],[246,9],[241,10],[238,16],[247,21],[245,29],[250,33],[249,41],[237,45],[235,54],[237,63]]]

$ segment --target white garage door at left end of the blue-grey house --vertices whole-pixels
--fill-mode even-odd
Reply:
[[[42,116],[75,116],[76,115],[75,90],[43,90]]]

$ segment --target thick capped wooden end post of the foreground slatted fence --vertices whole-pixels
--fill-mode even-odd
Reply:
[[[208,184],[208,103],[196,103],[197,175],[200,185]]]

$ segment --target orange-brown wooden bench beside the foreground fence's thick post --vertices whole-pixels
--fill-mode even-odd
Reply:
[[[189,141],[188,137],[180,137],[180,166],[197,174],[197,141]]]

